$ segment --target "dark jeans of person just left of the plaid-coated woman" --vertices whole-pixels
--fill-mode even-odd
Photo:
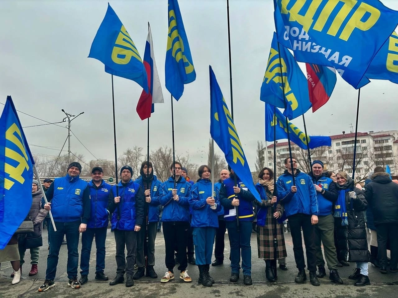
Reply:
[[[239,263],[242,256],[243,275],[251,275],[252,251],[250,237],[252,235],[252,222],[239,222],[239,231],[236,221],[227,221],[226,227],[231,247],[231,273],[239,274]]]

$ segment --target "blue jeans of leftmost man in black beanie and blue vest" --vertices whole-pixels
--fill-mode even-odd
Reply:
[[[67,247],[68,247],[68,263],[67,273],[68,278],[76,278],[78,276],[78,264],[79,264],[79,225],[78,222],[71,223],[57,223],[55,227],[57,231],[54,231],[52,224],[49,225],[49,238],[51,241],[50,252],[47,257],[47,270],[46,280],[53,281],[57,272],[58,255],[61,248],[62,240],[66,235]]]

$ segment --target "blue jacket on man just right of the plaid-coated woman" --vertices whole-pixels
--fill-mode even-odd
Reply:
[[[286,216],[290,217],[298,213],[318,215],[318,202],[311,178],[297,169],[295,175],[296,193],[292,193],[290,190],[293,185],[292,178],[292,174],[286,170],[277,182],[278,200],[281,201],[281,204],[284,204]]]

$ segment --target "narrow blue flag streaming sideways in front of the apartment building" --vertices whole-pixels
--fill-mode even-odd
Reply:
[[[276,115],[276,117],[274,116]],[[282,115],[281,111],[276,108],[274,113],[274,106],[265,104],[265,140],[268,142],[274,141],[274,125],[276,127],[276,140],[282,140],[288,138],[286,129],[286,118]],[[289,122],[289,137],[290,140],[295,143],[301,149],[307,149],[307,143],[305,140],[305,133],[300,131],[296,125]],[[330,137],[321,136],[308,136],[308,147],[314,149],[321,146],[331,146],[332,140]]]

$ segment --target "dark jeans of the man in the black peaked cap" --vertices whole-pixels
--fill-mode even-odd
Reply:
[[[87,228],[82,234],[82,253],[80,257],[81,275],[89,274],[90,253],[93,245],[94,235],[96,236],[96,273],[105,269],[105,240],[107,227]]]

